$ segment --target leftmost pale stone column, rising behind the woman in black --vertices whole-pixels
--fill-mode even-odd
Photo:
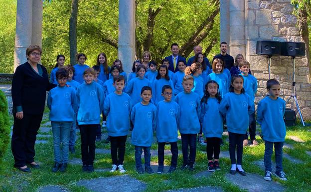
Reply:
[[[26,62],[26,48],[31,44],[32,0],[17,0],[14,70]]]

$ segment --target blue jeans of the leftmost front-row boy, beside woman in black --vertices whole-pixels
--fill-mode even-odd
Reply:
[[[54,143],[54,162],[68,163],[69,156],[69,134],[72,122],[52,121],[53,143]],[[62,143],[62,149],[60,148]]]

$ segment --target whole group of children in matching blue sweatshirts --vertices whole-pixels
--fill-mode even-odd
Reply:
[[[143,55],[151,58],[148,51]],[[85,54],[78,54],[77,59],[76,65],[63,66],[65,57],[58,55],[51,72],[51,82],[58,84],[50,90],[47,100],[54,138],[55,165],[52,172],[65,171],[69,151],[75,152],[76,122],[81,135],[82,170],[94,171],[95,141],[101,137],[102,113],[111,144],[111,172],[126,172],[123,163],[130,127],[136,170],[140,174],[154,173],[150,164],[154,132],[158,145],[158,174],[163,173],[167,143],[172,153],[168,173],[177,169],[178,131],[183,156],[181,170],[194,170],[198,133],[199,139],[202,133],[205,138],[208,171],[220,170],[220,145],[226,124],[230,173],[246,175],[242,168],[243,143],[245,145],[246,139],[247,145],[247,128],[252,124],[256,126],[257,79],[249,73],[250,63],[243,56],[235,69],[228,70],[218,58],[213,60],[210,68],[209,63],[205,64],[203,54],[197,53],[191,65],[187,66],[185,60],[174,62],[174,69],[179,69],[175,73],[168,70],[167,59],[163,59],[160,66],[155,61],[136,60],[128,77],[122,61],[116,59],[109,67],[104,53],[98,55],[97,65],[92,68],[84,63]],[[234,70],[237,72],[231,75]],[[287,180],[282,167],[285,102],[279,98],[280,83],[277,80],[267,81],[267,90],[269,95],[260,101],[257,112],[265,142],[264,179],[272,180],[271,157],[275,145],[277,170],[274,175]],[[254,137],[251,141],[258,144]]]

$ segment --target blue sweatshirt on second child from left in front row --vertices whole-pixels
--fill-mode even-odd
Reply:
[[[77,88],[76,96],[79,104],[78,124],[99,124],[105,100],[102,87],[94,81],[90,84],[82,83]]]

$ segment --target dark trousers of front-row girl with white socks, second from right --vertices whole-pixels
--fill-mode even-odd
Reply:
[[[244,134],[229,132],[229,154],[231,164],[242,165]],[[235,159],[236,149],[236,159]]]

